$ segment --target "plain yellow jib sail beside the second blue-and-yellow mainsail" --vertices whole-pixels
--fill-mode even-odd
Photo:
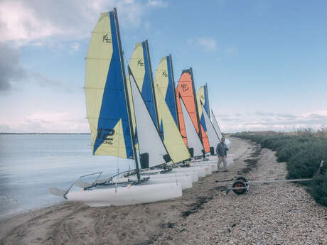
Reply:
[[[182,160],[191,158],[188,148],[186,148],[183,138],[178,131],[173,116],[171,115],[171,111],[166,104],[166,99],[164,99],[164,96],[161,93],[161,88],[159,85],[154,86],[154,91],[156,93],[156,106],[161,128],[161,139],[164,141],[169,156],[171,156],[171,160],[173,160],[173,163],[178,163]]]

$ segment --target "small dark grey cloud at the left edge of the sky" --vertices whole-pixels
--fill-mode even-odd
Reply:
[[[0,92],[11,90],[15,82],[26,77],[20,63],[21,53],[12,45],[0,43]]]

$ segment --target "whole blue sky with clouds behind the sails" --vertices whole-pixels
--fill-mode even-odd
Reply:
[[[223,132],[327,126],[327,1],[0,0],[0,132],[90,132],[85,57],[117,7],[124,60],[149,41],[208,83]]]

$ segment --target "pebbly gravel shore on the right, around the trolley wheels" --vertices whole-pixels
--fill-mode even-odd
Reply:
[[[274,152],[255,144],[252,149],[225,179],[235,174],[248,180],[286,178],[286,164],[277,163]],[[217,193],[152,244],[327,244],[327,209],[298,184],[252,185],[245,195]]]

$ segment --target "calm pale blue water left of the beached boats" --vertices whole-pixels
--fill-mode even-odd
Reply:
[[[90,135],[0,135],[0,219],[64,199],[48,187],[67,188],[80,175],[112,175],[132,160],[92,156]]]

